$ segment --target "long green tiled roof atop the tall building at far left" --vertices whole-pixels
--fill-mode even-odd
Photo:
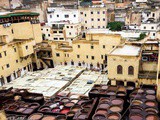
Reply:
[[[0,18],[9,18],[9,17],[15,17],[15,16],[38,16],[39,13],[35,12],[15,12],[15,13],[8,13],[5,15],[0,15]]]

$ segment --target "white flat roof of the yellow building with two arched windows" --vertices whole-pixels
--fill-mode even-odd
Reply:
[[[119,56],[138,56],[140,53],[141,47],[133,45],[124,45],[123,47],[118,47],[111,52],[111,55]]]

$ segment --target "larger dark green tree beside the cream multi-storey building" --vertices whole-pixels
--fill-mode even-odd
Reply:
[[[122,22],[110,22],[108,23],[107,28],[112,31],[121,31],[123,26],[124,23]]]

